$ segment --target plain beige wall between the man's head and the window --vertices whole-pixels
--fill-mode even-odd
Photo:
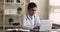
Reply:
[[[35,2],[37,4],[37,14],[40,16],[41,19],[48,19],[49,17],[49,10],[48,10],[48,5],[49,1],[48,0],[31,0],[30,2]]]

